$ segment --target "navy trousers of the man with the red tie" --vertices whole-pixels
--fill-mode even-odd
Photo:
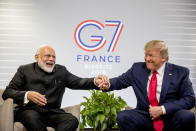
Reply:
[[[188,110],[179,110],[164,116],[163,131],[194,131],[195,116]],[[153,121],[147,112],[133,109],[121,111],[117,117],[120,131],[154,131]]]

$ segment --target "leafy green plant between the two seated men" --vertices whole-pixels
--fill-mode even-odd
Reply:
[[[117,128],[117,114],[126,106],[126,102],[120,96],[114,97],[114,93],[99,90],[90,90],[90,93],[91,97],[84,96],[86,102],[80,104],[84,107],[80,112],[82,119],[80,129],[84,129],[87,125],[100,131]]]

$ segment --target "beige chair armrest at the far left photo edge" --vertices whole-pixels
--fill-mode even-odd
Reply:
[[[0,131],[13,131],[14,105],[13,99],[7,99],[0,105]]]

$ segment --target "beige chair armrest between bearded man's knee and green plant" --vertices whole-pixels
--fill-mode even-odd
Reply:
[[[72,115],[78,119],[79,125],[76,131],[80,131],[80,104],[64,107],[62,109],[67,113],[72,113]]]

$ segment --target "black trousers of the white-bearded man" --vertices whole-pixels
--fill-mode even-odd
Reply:
[[[70,113],[39,113],[35,110],[25,110],[17,113],[16,121],[23,123],[28,131],[47,131],[46,126],[55,131],[76,131],[78,120]]]

